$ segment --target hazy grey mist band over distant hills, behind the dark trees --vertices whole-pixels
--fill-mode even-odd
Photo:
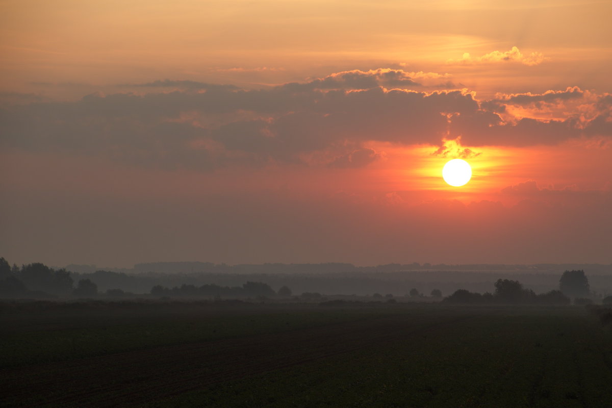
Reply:
[[[540,265],[431,265],[387,264],[356,267],[352,264],[259,264],[218,265],[209,262],[153,262],[136,264],[133,269],[97,272],[94,265],[67,265],[75,281],[89,278],[100,291],[120,288],[144,293],[155,285],[167,287],[190,284],[240,286],[246,281],[261,281],[278,290],[288,286],[294,294],[405,296],[413,288],[429,295],[439,289],[450,295],[457,289],[493,292],[498,279],[518,280],[536,293],[559,288],[565,270],[584,269],[592,291],[605,297],[612,294],[612,265],[540,264]]]

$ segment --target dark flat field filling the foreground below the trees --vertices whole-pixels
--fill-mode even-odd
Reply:
[[[2,303],[0,406],[606,407],[584,308]]]

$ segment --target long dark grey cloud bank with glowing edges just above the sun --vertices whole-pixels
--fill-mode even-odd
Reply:
[[[177,89],[5,106],[0,109],[0,144],[136,166],[209,171],[274,162],[356,168],[379,157],[364,147],[368,141],[406,146],[442,141],[434,154],[469,158],[478,154],[478,146],[552,145],[570,138],[612,136],[607,94],[587,98],[587,91],[572,87],[479,101],[466,89],[392,87],[408,86],[417,78],[447,76],[353,70],[256,90],[153,81],[136,85]],[[506,112],[512,101],[579,100],[580,92],[581,106],[590,106],[591,116],[544,120]],[[317,160],[306,159],[315,156]]]

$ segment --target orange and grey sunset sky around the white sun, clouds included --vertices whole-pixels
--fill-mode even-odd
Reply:
[[[610,15],[0,0],[0,256],[610,264]]]

